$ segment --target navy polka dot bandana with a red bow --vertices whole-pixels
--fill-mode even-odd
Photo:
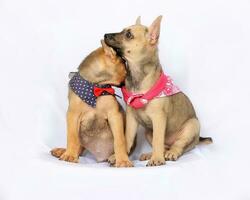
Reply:
[[[72,91],[85,103],[96,107],[96,99],[102,95],[115,95],[114,89],[109,84],[98,85],[85,80],[78,72],[69,81]]]

